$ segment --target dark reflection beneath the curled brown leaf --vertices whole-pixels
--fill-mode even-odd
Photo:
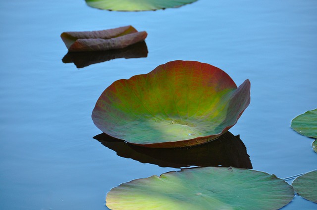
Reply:
[[[77,68],[102,63],[116,58],[145,58],[148,47],[145,42],[138,42],[122,49],[96,52],[68,52],[62,59],[63,63],[74,63]]]

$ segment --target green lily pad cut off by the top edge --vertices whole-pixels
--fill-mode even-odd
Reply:
[[[115,11],[145,11],[179,7],[197,0],[86,0],[95,8]]]

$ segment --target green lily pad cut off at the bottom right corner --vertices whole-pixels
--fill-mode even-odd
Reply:
[[[300,196],[317,203],[317,170],[297,177],[292,186]]]

